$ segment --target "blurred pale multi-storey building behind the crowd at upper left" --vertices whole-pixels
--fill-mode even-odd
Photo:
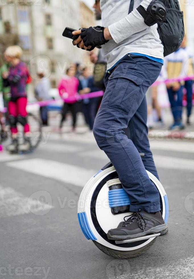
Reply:
[[[94,24],[93,11],[79,0],[6,0],[0,6],[0,34],[9,21],[18,34],[32,77],[43,71],[56,87],[67,65],[88,62],[88,52],[72,47],[62,37],[66,26],[79,29]]]

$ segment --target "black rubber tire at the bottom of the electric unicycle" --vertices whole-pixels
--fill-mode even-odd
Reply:
[[[105,253],[108,256],[117,258],[117,259],[130,259],[130,258],[135,258],[138,257],[140,255],[142,255],[143,253],[145,253],[156,241],[155,237],[152,241],[150,241],[150,243],[148,243],[146,246],[133,250],[133,251],[119,251],[119,250],[114,250],[111,248],[108,248],[96,241],[93,240],[94,244],[96,245],[96,247],[98,249],[100,249],[100,251],[102,251],[103,253]]]

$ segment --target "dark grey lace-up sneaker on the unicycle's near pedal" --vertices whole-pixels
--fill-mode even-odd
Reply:
[[[129,217],[127,220],[126,218]],[[139,238],[145,235],[160,233],[167,228],[160,211],[155,213],[133,212],[125,216],[124,222],[119,223],[116,229],[110,229],[108,239],[126,240]]]

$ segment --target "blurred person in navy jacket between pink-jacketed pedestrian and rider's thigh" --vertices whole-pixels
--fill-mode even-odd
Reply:
[[[99,91],[100,89],[94,86],[94,79],[88,73],[88,69],[84,68],[82,75],[79,77],[79,94],[87,94],[95,91]],[[86,124],[88,124],[90,130],[93,130],[94,120],[96,117],[96,110],[98,106],[98,98],[85,98],[82,101],[82,111],[84,113]]]

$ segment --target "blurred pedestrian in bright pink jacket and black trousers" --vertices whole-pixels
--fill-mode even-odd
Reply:
[[[61,111],[61,122],[60,129],[63,127],[63,122],[66,119],[66,114],[68,111],[71,112],[73,118],[73,131],[76,126],[76,118],[77,118],[77,101],[74,98],[78,92],[79,79],[75,77],[76,75],[76,65],[71,65],[67,68],[66,75],[62,77],[59,82],[58,90],[61,98],[67,99],[63,104],[63,108]],[[68,97],[72,98],[72,100],[68,100]]]

